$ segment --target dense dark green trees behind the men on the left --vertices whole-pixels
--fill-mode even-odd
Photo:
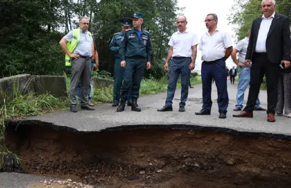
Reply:
[[[58,43],[78,27],[80,16],[90,18],[99,69],[112,74],[114,54],[109,50],[110,40],[121,30],[122,17],[140,11],[153,48],[153,69],[145,76],[162,78],[160,64],[165,62],[167,42],[176,30],[175,18],[180,10],[177,0],[1,0],[0,36],[5,37],[0,40],[0,77],[20,73],[69,75]]]

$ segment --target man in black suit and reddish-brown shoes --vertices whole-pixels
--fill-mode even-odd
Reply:
[[[250,88],[247,106],[233,117],[252,117],[260,85],[266,74],[268,110],[267,121],[275,122],[277,82],[280,63],[290,66],[291,39],[289,18],[275,13],[275,0],[263,0],[263,15],[252,22],[245,63],[250,61]]]

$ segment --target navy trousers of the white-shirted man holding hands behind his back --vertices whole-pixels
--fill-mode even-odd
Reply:
[[[201,67],[202,77],[202,96],[203,109],[211,110],[211,86],[214,78],[217,88],[217,103],[219,110],[227,110],[228,107],[228,93],[227,93],[227,78],[225,76],[225,60],[223,58],[211,62],[202,62]]]

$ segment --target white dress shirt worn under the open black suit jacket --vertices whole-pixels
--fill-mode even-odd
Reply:
[[[260,25],[256,45],[255,45],[255,52],[267,52],[266,49],[266,40],[270,30],[270,26],[272,24],[273,18],[275,17],[275,12],[272,14],[271,17],[266,18],[265,15],[262,15],[262,22]]]

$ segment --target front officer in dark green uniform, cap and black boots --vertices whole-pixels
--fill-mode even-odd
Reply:
[[[131,110],[141,111],[137,105],[139,97],[140,82],[144,73],[145,66],[147,70],[151,68],[152,47],[150,34],[142,29],[143,14],[135,12],[132,18],[132,29],[125,30],[122,39],[120,56],[121,66],[125,67],[124,83],[122,85],[121,101],[117,108],[118,112],[125,110],[125,101],[128,97],[128,91],[131,87],[132,105]],[[145,63],[147,61],[147,63]]]

